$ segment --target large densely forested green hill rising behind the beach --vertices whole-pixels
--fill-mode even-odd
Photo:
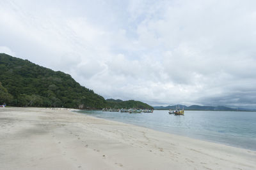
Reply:
[[[104,108],[106,100],[69,74],[0,53],[0,104],[9,106]]]

